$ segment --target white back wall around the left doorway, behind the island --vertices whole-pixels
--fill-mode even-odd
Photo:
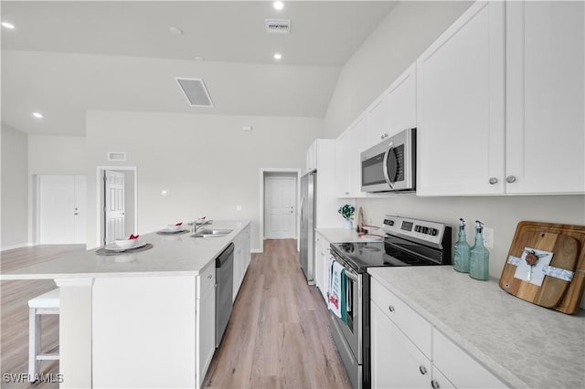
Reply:
[[[323,120],[312,118],[90,111],[88,248],[98,241],[96,166],[127,165],[137,169],[137,233],[199,216],[250,219],[257,249],[261,168],[302,169],[322,133]],[[127,152],[127,161],[108,163],[107,152]]]

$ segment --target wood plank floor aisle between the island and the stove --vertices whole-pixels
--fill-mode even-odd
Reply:
[[[266,240],[239,289],[207,388],[350,388],[318,289],[299,265],[296,240]]]

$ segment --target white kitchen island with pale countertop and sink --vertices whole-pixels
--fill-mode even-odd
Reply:
[[[209,238],[146,234],[140,239],[153,247],[141,252],[99,256],[92,249],[1,275],[54,279],[59,287],[60,387],[202,384],[215,350],[215,339],[209,342],[215,338],[215,293],[202,289],[215,287],[215,258],[242,241],[250,222],[205,227],[232,231]]]

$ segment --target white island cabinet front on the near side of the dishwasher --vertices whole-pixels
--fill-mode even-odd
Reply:
[[[207,265],[197,276],[197,387],[201,387],[216,351],[216,267]]]

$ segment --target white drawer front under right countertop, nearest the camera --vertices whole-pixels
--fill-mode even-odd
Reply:
[[[489,372],[471,355],[464,352],[441,331],[432,330],[432,363],[456,387],[505,388],[494,373]]]

